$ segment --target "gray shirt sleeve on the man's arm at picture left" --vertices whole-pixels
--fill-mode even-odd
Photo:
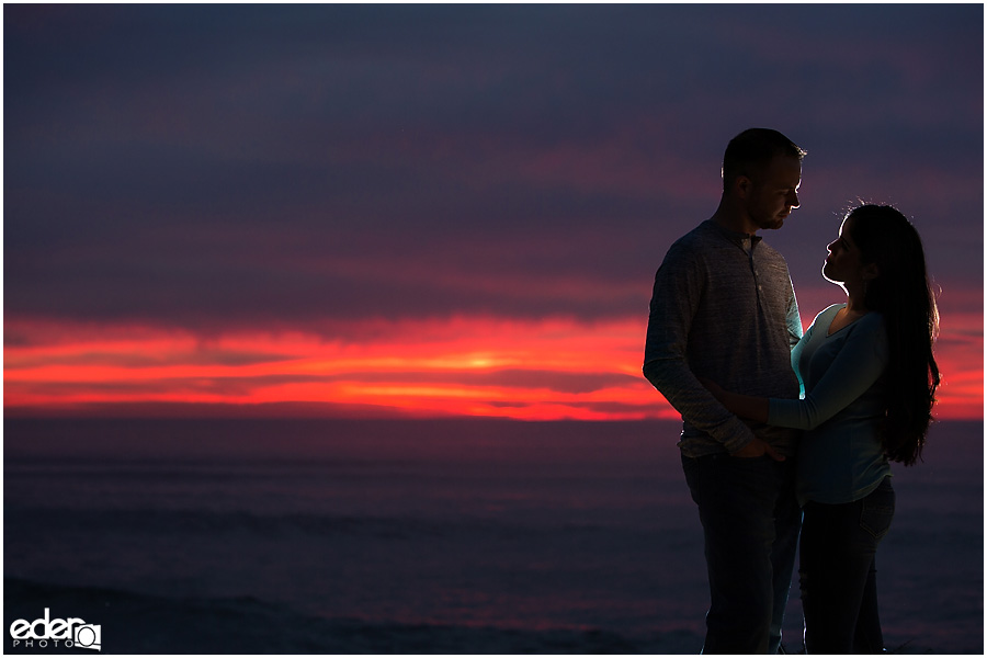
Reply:
[[[687,360],[704,279],[695,254],[673,245],[655,275],[643,370],[682,420],[736,452],[753,440],[753,432],[700,384]]]

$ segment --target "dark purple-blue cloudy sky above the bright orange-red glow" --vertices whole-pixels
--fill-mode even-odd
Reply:
[[[863,198],[914,217],[979,333],[983,12],[4,4],[8,326],[642,318],[767,126],[808,150],[767,236],[804,316]]]

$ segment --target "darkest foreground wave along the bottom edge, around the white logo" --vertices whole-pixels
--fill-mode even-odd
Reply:
[[[101,626],[103,654],[687,654],[689,631],[625,637],[605,629],[518,629],[322,619],[251,597],[166,598],[4,579],[4,624],[77,617]],[[50,649],[52,647],[48,647]],[[5,653],[44,653],[12,646]]]

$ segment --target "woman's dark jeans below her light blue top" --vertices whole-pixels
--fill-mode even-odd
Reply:
[[[881,654],[875,555],[895,515],[890,478],[844,504],[804,508],[798,576],[807,654]]]

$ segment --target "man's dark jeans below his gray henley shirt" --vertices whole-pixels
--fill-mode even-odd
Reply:
[[[776,654],[802,511],[795,462],[682,457],[699,506],[712,604],[704,654]]]

